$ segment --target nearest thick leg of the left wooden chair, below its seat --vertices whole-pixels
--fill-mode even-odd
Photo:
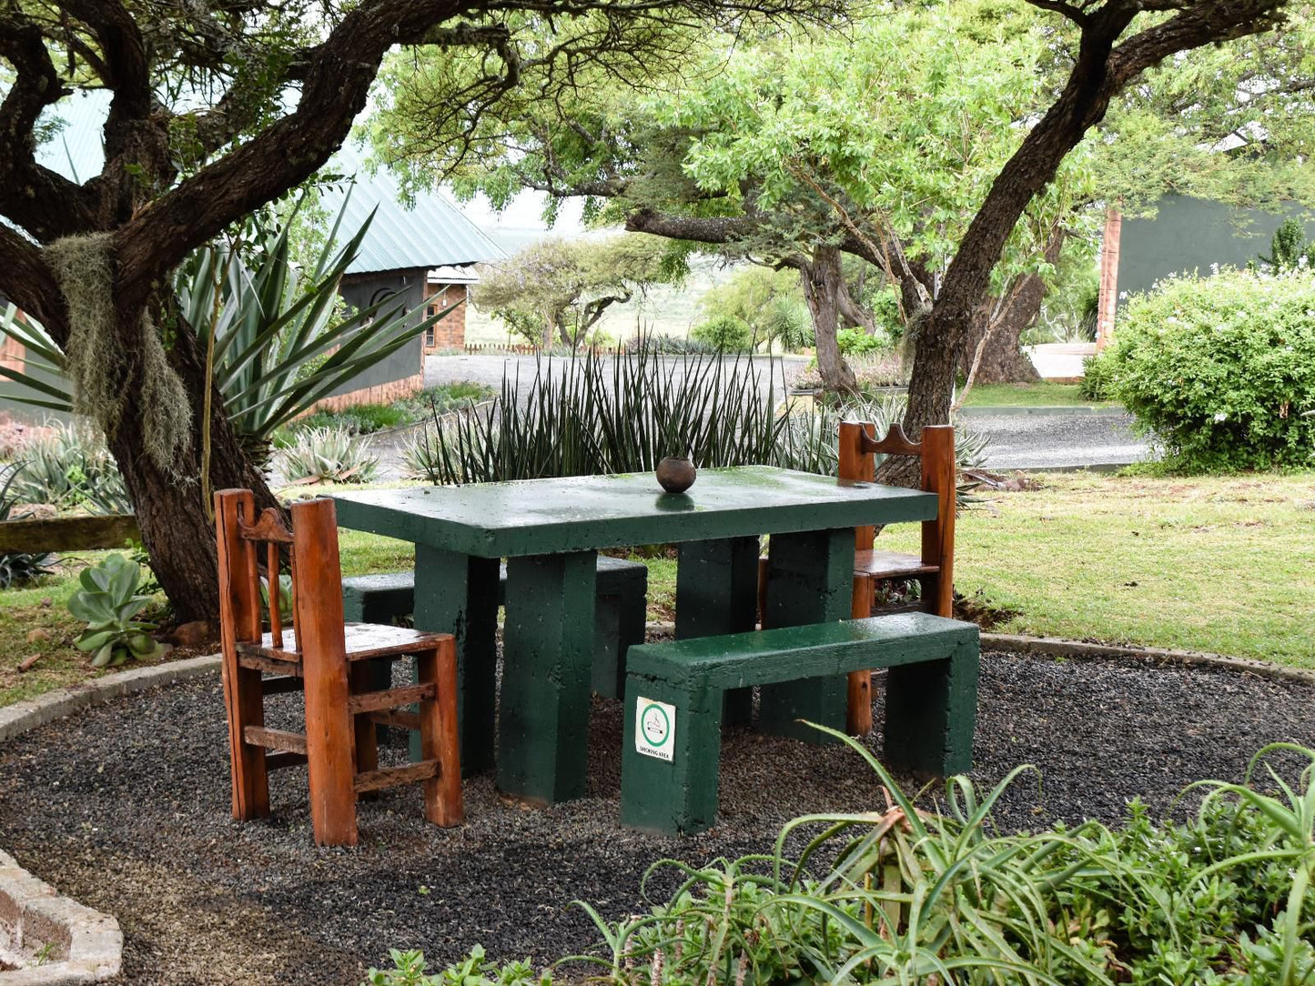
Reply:
[[[300,630],[300,627],[299,627]],[[356,743],[347,711],[347,660],[305,655],[306,766],[310,772],[310,823],[318,845],[356,844]]]

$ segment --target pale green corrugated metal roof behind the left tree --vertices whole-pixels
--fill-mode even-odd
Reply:
[[[108,92],[78,92],[49,109],[47,118],[59,117],[66,125],[54,139],[41,146],[37,159],[51,171],[79,183],[99,175],[105,164],[101,128],[109,112],[109,100]],[[370,210],[379,206],[356,260],[347,268],[348,273],[460,267],[506,256],[506,251],[466,218],[460,208],[442,192],[417,195],[416,206],[404,208],[397,180],[381,170],[371,175],[363,167],[356,147],[345,147],[330,160],[327,168],[356,176],[339,226],[339,238],[355,233]],[[322,193],[321,204],[330,221],[338,214],[345,199],[348,199],[346,184]]]

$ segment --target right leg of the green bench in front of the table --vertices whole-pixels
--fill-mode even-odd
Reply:
[[[977,640],[939,661],[901,664],[886,677],[885,761],[897,770],[965,773],[977,723]]]

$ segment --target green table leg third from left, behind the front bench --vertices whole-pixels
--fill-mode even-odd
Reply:
[[[723,636],[757,622],[759,539],[726,538],[680,544],[676,563],[676,639]],[[722,722],[740,726],[753,711],[747,688],[726,692]]]

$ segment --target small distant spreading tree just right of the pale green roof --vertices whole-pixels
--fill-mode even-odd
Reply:
[[[472,298],[537,346],[577,347],[609,308],[685,273],[684,255],[648,237],[542,239],[483,264]]]

